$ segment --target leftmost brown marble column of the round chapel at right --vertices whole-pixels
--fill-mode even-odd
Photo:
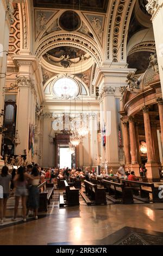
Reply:
[[[123,121],[123,141],[124,141],[123,143],[124,143],[125,162],[126,162],[126,165],[128,166],[131,164],[128,121]]]

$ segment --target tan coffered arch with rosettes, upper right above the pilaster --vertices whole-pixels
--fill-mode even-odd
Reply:
[[[112,0],[108,13],[108,38],[106,59],[126,63],[127,35],[136,0]]]

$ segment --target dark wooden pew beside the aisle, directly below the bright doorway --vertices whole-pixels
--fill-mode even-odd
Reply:
[[[64,180],[64,184],[65,184],[65,201],[66,203],[64,205],[68,205],[68,206],[74,206],[74,205],[79,205],[79,189],[75,188],[75,187],[70,187],[70,185],[68,185],[67,181]],[[59,206],[64,206],[63,205],[64,202],[64,198],[62,195],[60,195],[60,203]]]

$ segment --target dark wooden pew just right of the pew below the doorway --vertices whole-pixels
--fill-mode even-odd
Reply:
[[[90,181],[84,180],[85,194],[80,192],[87,205],[90,204],[105,204],[106,205],[106,189],[98,187]],[[91,202],[91,203],[90,203]]]

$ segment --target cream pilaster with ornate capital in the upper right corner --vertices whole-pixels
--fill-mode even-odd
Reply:
[[[152,15],[156,53],[158,57],[161,88],[163,92],[163,0],[148,0],[147,11]]]

